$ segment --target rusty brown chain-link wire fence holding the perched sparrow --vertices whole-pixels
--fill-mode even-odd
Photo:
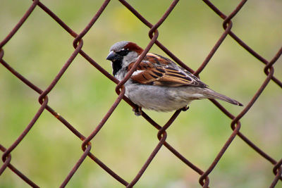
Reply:
[[[84,51],[82,51],[82,46],[83,46],[82,38],[91,29],[91,27],[94,25],[94,23],[98,20],[99,16],[102,15],[104,9],[109,4],[110,0],[104,1],[102,6],[99,8],[97,13],[92,18],[92,20],[90,20],[90,23],[88,23],[87,26],[85,27],[85,29],[82,30],[82,32],[80,32],[79,34],[77,34],[70,27],[68,27],[68,25],[66,25],[66,23],[64,23],[63,20],[61,20],[54,12],[52,12],[49,8],[47,8],[47,6],[44,6],[44,4],[42,4],[39,0],[34,0],[31,4],[30,8],[28,8],[28,10],[23,15],[23,17],[20,19],[18,24],[1,41],[1,43],[0,43],[0,49],[1,49],[1,51],[0,51],[0,62],[1,62],[1,64],[4,65],[4,67],[8,71],[10,71],[13,75],[18,77],[18,79],[20,79],[23,83],[27,84],[28,87],[30,87],[31,89],[33,89],[35,92],[37,92],[39,94],[38,100],[39,100],[39,104],[41,104],[41,106],[38,109],[37,113],[35,114],[34,118],[32,118],[32,120],[27,125],[27,127],[25,127],[25,130],[22,132],[22,134],[20,134],[18,139],[16,139],[16,141],[13,142],[13,144],[11,144],[11,146],[8,146],[8,149],[6,149],[4,146],[2,146],[0,144],[0,150],[4,152],[3,155],[2,155],[2,161],[4,163],[3,163],[3,165],[1,165],[0,175],[2,173],[4,173],[4,171],[8,167],[9,169],[11,169],[13,171],[13,173],[16,173],[16,175],[18,175],[23,181],[25,181],[27,184],[30,184],[30,186],[39,187],[39,185],[35,184],[35,182],[32,182],[32,180],[30,180],[28,177],[23,175],[23,173],[20,173],[20,171],[17,170],[17,168],[14,167],[11,164],[11,153],[18,146],[18,144],[20,144],[20,142],[25,138],[25,135],[28,132],[30,132],[30,129],[32,128],[32,126],[35,124],[35,122],[40,117],[42,112],[46,109],[52,115],[54,115],[54,117],[56,117],[59,121],[61,121],[61,123],[63,123],[63,125],[68,127],[68,130],[71,130],[71,132],[73,132],[73,134],[75,134],[75,136],[79,137],[82,140],[82,150],[84,152],[82,153],[82,156],[80,157],[78,162],[75,163],[75,165],[73,166],[73,169],[68,173],[65,180],[62,182],[61,187],[65,187],[66,184],[68,184],[69,180],[71,180],[71,177],[73,177],[76,170],[78,170],[78,168],[83,163],[85,158],[87,158],[87,156],[89,156],[92,159],[92,161],[97,163],[97,165],[99,165],[101,168],[103,168],[107,173],[109,173],[109,175],[114,177],[118,182],[125,185],[126,187],[133,187],[133,185],[136,184],[136,182],[140,179],[142,174],[145,173],[145,170],[148,167],[149,163],[152,162],[152,160],[154,159],[154,156],[157,155],[159,149],[161,149],[162,146],[165,146],[169,151],[171,151],[171,153],[173,153],[177,158],[179,158],[180,161],[183,161],[183,163],[188,165],[188,167],[192,168],[192,170],[195,170],[195,172],[197,172],[200,175],[199,182],[202,185],[202,187],[209,187],[209,174],[215,168],[216,164],[219,163],[219,161],[220,161],[221,157],[223,156],[223,154],[225,153],[226,149],[228,149],[228,146],[231,144],[231,142],[233,142],[233,139],[237,136],[240,137],[241,139],[243,139],[243,141],[246,144],[248,144],[252,149],[257,151],[257,153],[259,153],[259,155],[261,155],[263,158],[265,158],[267,161],[269,161],[272,165],[274,165],[274,168],[273,168],[274,180],[273,180],[273,182],[270,183],[270,187],[275,187],[278,180],[282,180],[282,177],[281,177],[282,159],[280,161],[274,160],[274,158],[271,158],[271,156],[269,156],[267,153],[262,151],[262,149],[259,149],[259,146],[255,145],[242,132],[240,132],[240,127],[241,127],[240,119],[247,113],[247,111],[250,110],[250,108],[252,108],[252,105],[255,103],[255,101],[257,101],[257,99],[259,98],[259,95],[262,94],[262,92],[264,91],[264,89],[266,88],[266,86],[269,84],[269,82],[271,80],[274,81],[278,85],[278,87],[282,88],[281,80],[278,80],[276,77],[274,77],[274,67],[273,67],[274,63],[276,63],[276,61],[278,60],[278,58],[280,58],[280,56],[282,54],[282,48],[278,50],[277,54],[271,59],[271,61],[267,61],[265,58],[263,58],[262,56],[257,54],[257,52],[255,52],[253,49],[251,49],[250,46],[247,46],[247,44],[245,44],[245,42],[243,42],[239,37],[237,37],[231,31],[232,18],[234,18],[234,16],[240,11],[240,9],[244,6],[244,4],[246,3],[247,0],[240,1],[238,6],[229,15],[224,15],[210,1],[203,0],[204,3],[207,4],[207,6],[209,6],[209,8],[212,9],[212,11],[214,11],[214,13],[216,13],[217,15],[219,15],[223,19],[223,29],[224,29],[224,31],[223,31],[223,34],[221,35],[221,37],[219,38],[219,40],[216,42],[216,44],[214,45],[214,47],[210,51],[210,53],[208,54],[207,58],[204,59],[204,62],[195,71],[192,70],[191,68],[189,68],[187,65],[185,65],[185,63],[180,61],[179,58],[177,58],[175,55],[173,55],[171,53],[171,51],[169,51],[163,44],[161,44],[161,42],[159,42],[157,40],[158,35],[159,35],[159,32],[157,30],[158,27],[162,23],[164,23],[164,21],[166,20],[168,15],[173,11],[173,8],[175,8],[175,6],[178,4],[179,0],[173,1],[171,3],[171,5],[168,7],[167,11],[164,13],[164,15],[162,15],[161,18],[159,19],[159,21],[154,25],[152,23],[149,23],[149,21],[146,18],[144,18],[140,13],[138,13],[136,11],[136,9],[133,8],[133,6],[130,6],[130,4],[128,4],[127,1],[125,1],[125,0],[119,0],[119,1],[121,2],[121,4],[123,4],[123,6],[128,8],[128,10],[131,11],[131,13],[133,13],[142,23],[144,23],[145,25],[147,25],[147,27],[149,27],[148,35],[149,35],[149,38],[151,39],[151,41],[149,42],[149,44],[147,45],[145,50],[142,52],[140,57],[137,59],[137,62],[135,63],[133,68],[130,70],[128,75],[126,75],[125,78],[123,80],[121,80],[121,82],[118,82],[118,80],[116,80],[115,77],[110,75],[97,62],[95,62],[90,56],[88,56]],[[36,6],[39,6],[39,8],[42,8],[42,11],[44,11],[45,13],[50,15],[51,18],[53,18],[56,21],[56,23],[61,25],[61,27],[63,27],[63,29],[66,30],[66,32],[68,32],[72,37],[75,38],[73,40],[73,47],[75,49],[73,51],[73,54],[68,58],[68,60],[63,65],[63,67],[61,68],[59,73],[56,75],[54,80],[51,81],[51,83],[49,84],[47,89],[44,89],[44,90],[40,89],[35,84],[33,84],[32,82],[27,80],[25,77],[23,77],[23,75],[18,73],[8,63],[6,63],[6,61],[4,61],[3,46],[9,42],[9,40],[20,29],[20,27],[23,25],[23,23],[25,23],[25,20],[27,20],[27,18],[32,13],[32,11],[34,11]],[[150,124],[152,124],[158,130],[157,138],[159,139],[159,143],[154,148],[151,155],[147,158],[147,161],[142,166],[142,168],[137,173],[137,175],[133,178],[133,180],[130,180],[129,182],[124,180],[123,177],[114,173],[114,171],[111,170],[111,168],[109,168],[109,166],[107,166],[102,161],[100,161],[96,156],[94,156],[94,154],[91,152],[91,141],[95,137],[95,135],[99,132],[99,130],[101,130],[101,128],[104,126],[104,124],[106,123],[106,120],[108,120],[108,118],[111,116],[111,113],[114,112],[114,110],[116,109],[116,106],[118,106],[120,101],[125,100],[130,106],[132,106],[133,108],[136,108],[135,104],[133,104],[128,98],[126,98],[126,96],[124,96],[125,88],[123,87],[123,84],[129,79],[130,75],[132,75],[132,73],[135,70],[135,68],[137,67],[137,65],[140,63],[140,61],[142,61],[142,58],[144,58],[145,54],[147,54],[147,52],[149,51],[149,49],[151,49],[153,44],[157,44],[157,46],[159,46],[160,49],[162,49],[168,56],[170,56],[179,65],[183,66],[183,68],[189,70],[190,72],[194,73],[194,75],[198,76],[202,72],[202,70],[204,70],[207,63],[209,63],[210,59],[212,58],[214,53],[217,51],[217,49],[219,49],[219,46],[224,41],[224,39],[226,38],[227,35],[231,36],[235,40],[235,42],[238,42],[238,44],[240,44],[240,46],[242,46],[245,50],[250,52],[250,54],[252,54],[252,56],[254,56],[259,61],[261,61],[262,63],[265,64],[264,73],[266,74],[266,79],[262,83],[261,87],[259,87],[259,89],[257,89],[257,92],[252,97],[250,102],[245,106],[243,111],[241,111],[238,115],[231,114],[229,111],[226,110],[226,108],[223,108],[223,106],[221,106],[217,101],[211,99],[212,103],[214,105],[216,105],[222,111],[222,113],[226,114],[228,116],[228,118],[231,118],[231,120],[232,120],[231,129],[233,130],[233,132],[230,135],[230,137],[228,138],[228,140],[226,141],[226,143],[223,145],[223,147],[221,148],[219,153],[217,154],[216,158],[214,158],[214,161],[212,162],[212,164],[209,166],[209,168],[207,168],[207,170],[202,170],[202,169],[198,168],[196,165],[194,165],[193,163],[188,161],[188,159],[185,158],[181,153],[176,151],[176,149],[174,149],[173,146],[171,146],[170,144],[168,144],[168,142],[166,142],[166,137],[167,137],[166,130],[173,123],[173,121],[176,120],[176,118],[180,114],[181,110],[176,111],[164,126],[158,125],[154,120],[152,120],[152,118],[149,117],[149,115],[147,115],[144,111],[142,112],[142,117],[145,118],[145,120],[147,120]],[[113,81],[117,84],[116,93],[118,94],[118,97],[117,97],[116,101],[111,106],[111,108],[109,108],[109,111],[106,113],[106,115],[104,115],[104,118],[102,118],[99,125],[97,125],[97,127],[95,127],[93,132],[91,134],[89,134],[87,137],[85,137],[80,132],[78,132],[78,130],[76,130],[71,125],[71,123],[68,123],[68,121],[65,118],[63,118],[61,115],[59,115],[59,113],[56,113],[56,111],[54,111],[54,109],[51,108],[48,105],[48,94],[49,94],[49,92],[51,92],[51,90],[54,89],[54,87],[56,86],[56,83],[60,80],[61,76],[66,72],[66,70],[68,69],[68,66],[71,65],[71,63],[73,62],[75,57],[78,56],[78,54],[80,54],[89,63],[91,63],[94,66],[94,68],[97,68],[97,70],[99,70],[104,76],[108,77],[109,80],[111,80],[111,81]]]

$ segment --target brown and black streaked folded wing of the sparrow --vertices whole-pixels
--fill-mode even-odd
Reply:
[[[128,70],[134,63],[128,65]],[[140,84],[150,84],[166,87],[180,87],[180,86],[197,86],[207,87],[197,77],[192,75],[187,70],[182,70],[173,61],[162,58],[156,54],[153,56],[148,53],[147,56],[137,66],[137,69],[131,76],[134,82]]]

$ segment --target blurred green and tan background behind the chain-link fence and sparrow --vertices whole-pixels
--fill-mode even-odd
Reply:
[[[103,1],[42,1],[79,33]],[[156,23],[171,1],[129,1],[151,23]],[[240,1],[212,1],[223,13],[231,13]],[[32,1],[1,0],[0,40],[23,16]],[[233,18],[233,32],[257,53],[270,60],[282,44],[282,1],[247,1]],[[223,33],[223,20],[202,1],[180,1],[159,27],[159,41],[190,68],[196,70]],[[97,23],[83,38],[83,50],[111,73],[105,61],[109,47],[128,40],[145,47],[145,27],[118,1],[111,1]],[[73,53],[73,37],[47,13],[36,7],[30,18],[4,46],[4,60],[41,89],[46,89]],[[152,52],[166,56],[156,45]],[[274,65],[282,80],[282,59]],[[265,80],[264,64],[231,37],[216,51],[201,80],[220,92],[247,104]],[[0,143],[17,139],[39,108],[38,94],[0,66]],[[49,106],[85,136],[104,117],[117,95],[115,84],[80,55],[50,92]],[[263,151],[282,156],[281,88],[270,82],[241,120],[241,132]],[[243,108],[222,103],[233,115]],[[160,125],[172,113],[146,111]],[[209,168],[230,136],[231,120],[208,100],[194,101],[169,127],[167,141],[202,170]],[[114,172],[130,182],[157,145],[157,130],[136,117],[124,101],[92,139],[92,152]],[[82,155],[82,142],[49,112],[44,111],[23,142],[12,152],[11,163],[41,187],[59,187]],[[1,162],[0,165],[3,163]],[[269,187],[271,165],[236,137],[209,175],[210,187]],[[199,175],[162,147],[135,187],[200,187]],[[0,177],[0,187],[29,187],[11,170]],[[67,187],[123,187],[89,158]],[[282,187],[278,182],[276,187]]]

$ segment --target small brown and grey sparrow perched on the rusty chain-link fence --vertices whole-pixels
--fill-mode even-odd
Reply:
[[[119,81],[133,67],[143,49],[133,42],[117,42],[110,48],[106,60],[111,61],[113,75]],[[195,75],[180,67],[169,58],[147,53],[130,79],[125,82],[125,96],[141,108],[154,111],[175,111],[188,109],[195,99],[219,99],[243,106],[240,102],[209,89]]]

